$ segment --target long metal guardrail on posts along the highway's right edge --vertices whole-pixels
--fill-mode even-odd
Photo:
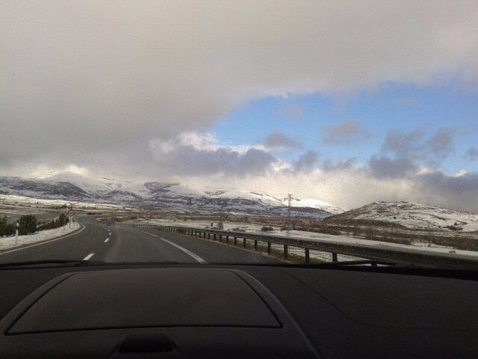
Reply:
[[[254,240],[254,249],[258,250],[258,243],[267,243],[267,254],[272,254],[272,243],[283,245],[284,259],[289,257],[289,247],[303,248],[306,263],[310,263],[310,250],[320,252],[329,252],[332,254],[332,261],[337,261],[337,254],[347,256],[356,256],[373,261],[384,261],[389,263],[411,263],[411,264],[430,264],[430,265],[448,265],[463,266],[476,265],[478,268],[478,256],[466,256],[463,254],[448,254],[439,252],[428,252],[413,247],[395,247],[386,245],[360,245],[353,243],[337,243],[329,240],[271,236],[268,234],[254,234],[242,231],[224,231],[220,229],[204,229],[193,227],[161,226],[161,225],[133,225],[146,229],[157,229],[159,231],[184,234],[218,240],[222,243],[247,247],[247,240]]]

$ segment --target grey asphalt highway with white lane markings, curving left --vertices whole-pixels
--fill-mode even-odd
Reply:
[[[183,234],[115,225],[91,218],[78,233],[0,254],[0,263],[52,259],[105,262],[278,263],[258,253]]]

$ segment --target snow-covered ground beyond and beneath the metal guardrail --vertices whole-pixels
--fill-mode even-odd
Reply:
[[[193,227],[193,228],[206,228],[211,226],[210,221],[204,221],[204,220],[187,220],[187,221],[176,220],[175,222],[173,222],[171,220],[152,219],[149,221],[146,221],[146,220],[136,221],[136,223],[138,222],[149,223],[150,225],[177,225],[181,227]],[[218,225],[218,222],[214,222],[214,226],[217,226],[217,225]],[[260,230],[263,227],[263,225],[256,225],[252,223],[236,223],[236,222],[223,222],[223,225],[224,225],[224,230],[226,231],[228,230],[233,231],[233,230],[240,229],[240,230],[246,231],[247,233],[287,237],[286,231],[280,231],[278,229],[274,229],[274,231],[263,232]],[[413,245],[402,245],[399,243],[389,243],[389,242],[384,242],[380,240],[362,239],[362,238],[357,238],[354,236],[334,236],[332,234],[322,234],[322,233],[315,233],[315,232],[308,232],[308,231],[290,231],[289,236],[292,238],[320,240],[321,242],[328,241],[332,243],[347,243],[347,244],[374,246],[374,247],[379,246],[379,247],[391,247],[391,248],[393,247],[413,248],[413,249],[423,250],[426,252],[438,252],[438,253],[450,253],[450,251],[453,251],[455,254],[478,256],[478,252],[476,251],[453,249],[452,247],[445,247],[445,246],[434,245],[434,244],[432,244],[432,247],[428,247],[427,243],[421,243],[418,241],[416,241]],[[282,248],[281,245],[278,245],[278,247]],[[296,249],[291,248],[290,253],[294,253],[292,251],[295,251],[295,250]],[[303,255],[303,249],[298,249],[296,252],[297,254]],[[317,252],[317,251],[313,251],[313,252]],[[331,254],[328,252],[321,252],[321,254],[315,254],[315,256],[313,257],[311,252],[310,256],[311,258],[317,258],[317,259],[324,259],[324,257],[326,257],[327,260],[330,260]],[[357,259],[355,257],[349,257],[349,258],[351,260]]]

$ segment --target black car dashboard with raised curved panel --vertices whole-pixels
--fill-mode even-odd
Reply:
[[[0,270],[1,358],[478,358],[477,272]]]

